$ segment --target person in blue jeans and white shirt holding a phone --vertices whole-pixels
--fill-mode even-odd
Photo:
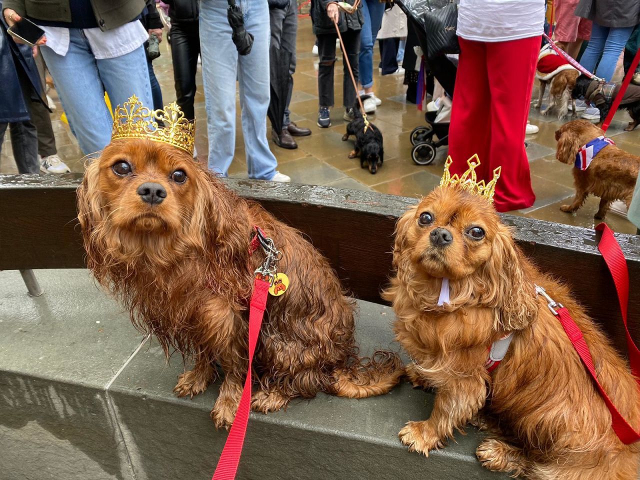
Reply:
[[[149,34],[139,21],[145,0],[4,0],[2,8],[10,28],[24,18],[44,30],[37,44],[85,155],[111,141],[105,90],[114,107],[131,95],[153,105],[143,46]]]

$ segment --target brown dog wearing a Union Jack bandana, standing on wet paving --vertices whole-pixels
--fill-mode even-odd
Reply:
[[[600,135],[604,132],[588,120],[573,120],[556,131],[556,158],[572,166],[575,186],[575,198],[571,205],[560,207],[563,212],[578,211],[589,194],[600,197],[600,207],[595,214],[598,219],[605,218],[609,205],[615,200],[623,200],[627,209],[631,204],[640,157],[609,145],[600,150],[586,170],[573,166],[579,148]]]

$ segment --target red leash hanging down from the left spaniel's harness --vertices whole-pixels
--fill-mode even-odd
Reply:
[[[225,442],[225,447],[222,449],[218,466],[211,480],[234,480],[236,478],[236,471],[244,444],[244,435],[246,434],[246,426],[249,421],[249,413],[251,412],[251,366],[253,354],[255,353],[255,345],[260,335],[260,326],[262,326],[264,310],[267,306],[269,287],[271,287],[271,282],[266,280],[266,278],[273,278],[273,272],[279,260],[276,253],[279,254],[280,252],[277,252],[273,246],[273,241],[267,238],[259,227],[254,228],[256,235],[251,241],[249,253],[251,255],[259,246],[262,246],[267,253],[267,258],[262,269],[258,269],[255,272],[255,278],[253,280],[253,294],[249,308],[249,364],[246,379],[244,380],[242,397],[236,412],[236,419],[231,426],[231,430],[227,436],[227,442]]]

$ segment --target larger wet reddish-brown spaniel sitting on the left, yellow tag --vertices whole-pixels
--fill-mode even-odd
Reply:
[[[362,398],[388,392],[403,374],[399,358],[378,353],[366,365],[353,337],[354,302],[327,260],[300,232],[239,198],[177,148],[118,140],[88,166],[78,207],[87,263],[124,303],[133,323],[166,353],[193,356],[179,376],[182,396],[203,392],[225,372],[211,411],[217,427],[234,420],[248,357],[248,300],[254,225],[283,253],[291,285],[269,297],[253,375],[253,410],[279,410],[294,397],[326,392]]]

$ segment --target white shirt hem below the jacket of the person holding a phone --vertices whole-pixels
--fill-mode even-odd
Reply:
[[[47,36],[47,47],[65,56],[69,49],[69,29],[66,27],[40,26]],[[139,20],[125,23],[113,30],[85,28],[83,33],[97,60],[116,58],[134,51],[149,39],[148,31]]]

